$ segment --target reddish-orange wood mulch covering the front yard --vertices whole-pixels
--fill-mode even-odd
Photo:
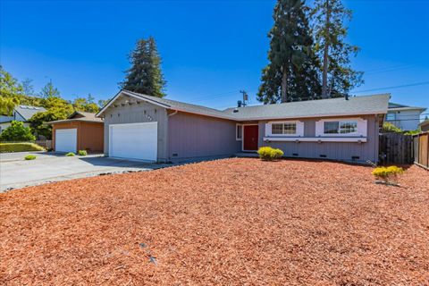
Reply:
[[[429,172],[253,158],[0,194],[0,284],[429,284]]]

